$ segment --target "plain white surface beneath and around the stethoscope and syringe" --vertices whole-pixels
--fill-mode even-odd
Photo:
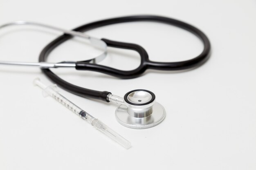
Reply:
[[[115,120],[115,105],[61,90],[132,143],[125,150],[32,85],[52,84],[39,68],[0,66],[0,170],[255,170],[256,169],[255,0],[0,0],[0,24],[31,20],[72,29],[103,18],[157,14],[201,29],[212,55],[192,71],[147,71],[136,79],[54,70],[73,84],[123,96],[144,88],[166,109],[158,126],[134,130]],[[159,23],[106,26],[88,32],[143,46],[154,61],[190,59],[202,50],[190,33]],[[33,26],[0,30],[0,60],[36,62],[59,32]],[[81,40],[57,48],[49,61],[85,60],[92,49]],[[139,65],[135,52],[110,49],[102,62],[124,70]]]

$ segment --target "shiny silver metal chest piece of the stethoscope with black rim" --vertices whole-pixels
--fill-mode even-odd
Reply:
[[[154,93],[134,90],[126,93],[124,104],[115,112],[117,121],[128,128],[151,128],[161,123],[165,117],[163,106],[155,102]]]

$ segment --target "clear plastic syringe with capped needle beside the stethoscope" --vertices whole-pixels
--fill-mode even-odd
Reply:
[[[45,84],[40,82],[39,78],[34,80],[34,84],[43,89],[44,97],[47,97],[47,96],[53,97],[56,101],[66,106],[66,108],[76,113],[76,115],[79,115],[82,119],[88,121],[92,126],[94,126],[94,128],[98,129],[103,134],[107,135],[108,137],[116,141],[121,146],[124,146],[124,148],[129,149],[131,147],[131,143],[128,140],[124,139],[124,137],[121,137],[119,134],[117,134],[117,132],[110,129],[101,121],[99,121],[89,113],[85,112],[84,110],[76,106],[74,103],[70,102],[70,100],[65,98],[63,95],[58,93],[56,84],[53,84],[51,86],[45,86]]]

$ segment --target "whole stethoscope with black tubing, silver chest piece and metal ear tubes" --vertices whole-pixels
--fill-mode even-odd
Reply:
[[[132,43],[126,42],[117,42],[113,40],[108,40],[102,38],[92,38],[89,35],[86,35],[81,32],[89,31],[92,29],[99,28],[101,26],[106,26],[110,24],[117,24],[122,22],[137,22],[137,21],[152,21],[152,22],[162,22],[165,24],[171,24],[174,26],[178,26],[182,29],[186,29],[191,33],[195,34],[202,40],[204,44],[204,49],[200,55],[194,57],[191,60],[181,61],[181,62],[153,62],[148,58],[148,54],[146,50]],[[105,102],[114,102],[116,104],[120,104],[115,112],[115,116],[117,121],[128,128],[142,129],[142,128],[150,128],[156,126],[161,123],[165,118],[165,110],[163,106],[157,102],[155,102],[155,94],[151,91],[144,89],[137,89],[133,91],[129,91],[124,95],[124,97],[119,97],[117,95],[112,95],[112,93],[108,91],[95,91],[88,88],[83,88],[66,82],[53,73],[49,68],[59,68],[59,67],[70,67],[76,68],[76,70],[86,70],[86,71],[96,71],[108,75],[112,75],[114,77],[119,77],[122,79],[131,79],[135,77],[139,77],[142,73],[144,73],[147,69],[155,69],[162,71],[177,71],[177,70],[185,70],[189,68],[195,68],[200,66],[204,62],[207,61],[210,55],[210,42],[207,36],[195,28],[194,26],[187,24],[185,22],[181,22],[179,20],[175,20],[172,18],[155,16],[155,15],[135,15],[128,17],[120,17],[120,18],[111,18],[107,20],[100,20],[97,22],[92,22],[89,24],[85,24],[82,26],[73,29],[72,31],[59,29],[54,26],[49,26],[40,23],[34,22],[26,22],[26,21],[18,21],[12,22],[8,24],[4,24],[0,26],[0,28],[16,25],[16,24],[31,24],[37,26],[43,26],[49,29],[55,29],[58,31],[62,31],[65,34],[56,38],[52,42],[50,42],[45,48],[41,51],[39,56],[38,63],[27,63],[27,62],[3,62],[0,61],[0,64],[11,64],[11,65],[29,65],[29,66],[40,66],[43,73],[51,79],[58,86],[61,86],[65,90],[74,93],[76,95],[82,97],[89,97],[94,99],[101,99]],[[78,61],[78,62],[58,62],[58,63],[48,63],[46,59],[48,55],[60,44],[69,40],[73,36],[79,36],[82,38],[86,38],[90,41],[92,46],[101,49],[103,52],[97,57],[86,60],[86,61]],[[108,66],[103,66],[97,64],[101,62],[107,55],[107,46],[121,48],[121,49],[129,49],[137,51],[141,57],[140,65],[130,71],[123,71],[115,68],[111,68]]]

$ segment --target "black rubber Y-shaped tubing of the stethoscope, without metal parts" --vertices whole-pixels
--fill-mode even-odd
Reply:
[[[204,44],[204,49],[200,55],[197,57],[191,59],[191,60],[186,60],[182,62],[152,62],[148,60],[148,54],[146,51],[139,45],[137,44],[131,44],[131,43],[124,43],[124,42],[116,42],[112,40],[107,40],[107,39],[102,39],[103,41],[106,42],[108,46],[113,46],[117,48],[125,48],[126,45],[131,45],[132,48],[139,54],[141,55],[141,64],[138,68],[132,71],[121,71],[115,68],[110,68],[107,66],[102,66],[99,64],[89,64],[86,62],[77,62],[76,63],[76,69],[81,69],[81,70],[90,70],[90,71],[98,71],[101,73],[106,73],[109,75],[113,75],[116,77],[120,78],[134,78],[138,77],[141,73],[146,71],[146,69],[157,69],[157,70],[183,70],[183,69],[188,69],[188,68],[193,68],[196,66],[200,66],[202,63],[204,63],[208,58],[210,54],[210,49],[211,45],[209,42],[209,39],[207,36],[200,31],[199,29],[195,28],[194,26],[187,24],[185,22],[181,22],[179,20],[175,20],[172,18],[166,18],[162,16],[155,16],[155,15],[134,15],[134,16],[127,16],[127,17],[119,17],[119,18],[111,18],[107,20],[100,20],[97,22],[92,22],[89,24],[85,24],[82,26],[79,26],[76,29],[73,29],[74,31],[89,31],[91,29],[96,29],[101,26],[106,26],[110,24],[117,24],[117,23],[122,23],[122,22],[136,22],[136,21],[153,21],[153,22],[162,22],[165,24],[171,24],[177,27],[180,27],[182,29],[185,29],[200,38]],[[39,62],[45,62],[49,53],[55,49],[58,45],[61,43],[69,40],[72,38],[72,35],[61,35],[60,37],[56,38],[52,42],[50,42],[45,48],[41,51],[40,56],[39,56]],[[120,46],[121,45],[121,46]],[[122,46],[123,45],[123,46]],[[129,48],[127,48],[129,49]],[[143,58],[146,57],[146,58]],[[145,62],[143,62],[145,61]],[[54,74],[52,71],[50,71],[47,68],[42,68],[43,73],[49,77],[54,83],[58,84],[58,86],[61,86],[65,90],[74,93],[76,95],[82,96],[82,97],[91,97],[94,99],[101,99],[103,101],[109,102],[107,99],[108,94],[111,94],[110,92],[107,91],[95,91],[95,90],[90,90],[87,88],[82,88],[79,86],[76,86],[74,84],[70,84],[69,82],[66,82],[65,80],[61,79],[58,77],[56,74]]]

